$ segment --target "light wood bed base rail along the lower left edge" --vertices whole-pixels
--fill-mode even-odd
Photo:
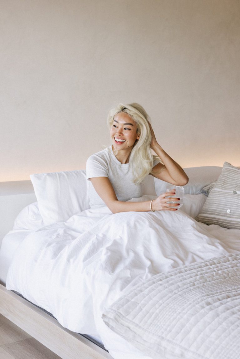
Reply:
[[[0,284],[0,313],[63,359],[112,359],[112,356]]]

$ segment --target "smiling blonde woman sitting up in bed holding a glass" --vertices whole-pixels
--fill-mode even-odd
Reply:
[[[174,191],[151,201],[126,202],[144,195],[143,183],[148,174],[176,186],[188,182],[180,165],[158,144],[144,108],[137,103],[119,104],[110,111],[108,126],[112,146],[87,160],[90,205],[107,205],[112,213],[177,210],[179,204],[168,204],[166,199],[167,195],[174,195]],[[153,156],[151,149],[164,164]]]

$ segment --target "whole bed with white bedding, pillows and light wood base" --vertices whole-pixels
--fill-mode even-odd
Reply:
[[[62,358],[238,358],[240,169],[185,171],[174,213],[89,208],[84,170],[4,184],[1,314]]]

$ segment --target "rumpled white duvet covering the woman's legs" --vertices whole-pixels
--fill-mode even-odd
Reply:
[[[181,210],[90,209],[31,232],[14,255],[6,288],[69,330],[99,335],[116,359],[150,358],[111,331],[103,313],[125,290],[154,275],[240,252],[239,238],[239,230],[198,223]]]

